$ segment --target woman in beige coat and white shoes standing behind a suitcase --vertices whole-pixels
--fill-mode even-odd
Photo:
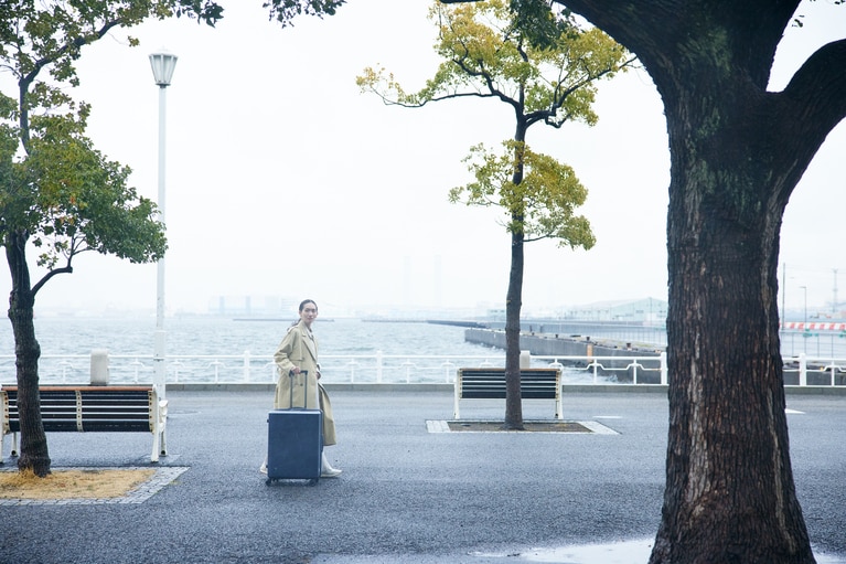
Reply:
[[[318,339],[311,331],[311,324],[318,317],[318,305],[314,300],[307,299],[300,304],[300,320],[288,329],[282,342],[274,354],[276,370],[279,379],[276,382],[276,395],[274,408],[288,409],[292,406],[323,412],[323,446],[334,445],[335,422],[332,417],[332,404],[329,395],[318,382],[320,380],[320,363],[318,362]],[[296,385],[291,392],[291,374],[307,372],[308,385]],[[308,397],[303,397],[308,390]],[[266,464],[261,465],[261,472],[267,472]],[[338,468],[332,468],[323,454],[321,478],[334,478],[341,473]]]

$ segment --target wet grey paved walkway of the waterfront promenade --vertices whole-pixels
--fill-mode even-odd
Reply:
[[[663,394],[566,396],[567,419],[615,433],[514,434],[427,424],[451,417],[449,392],[333,391],[339,445],[326,454],[344,473],[315,487],[268,487],[258,473],[271,393],[168,397],[170,454],[158,492],[131,503],[2,504],[0,562],[629,564],[645,562],[657,530]],[[846,562],[846,397],[788,403],[815,552],[820,562]],[[503,402],[462,403],[465,418],[503,409]],[[549,418],[553,409],[526,402],[524,417]],[[150,466],[148,435],[49,439],[54,468]],[[585,546],[592,544],[602,546]]]

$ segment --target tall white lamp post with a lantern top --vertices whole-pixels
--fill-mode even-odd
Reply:
[[[161,51],[150,55],[150,66],[153,78],[159,86],[159,221],[164,223],[164,91],[170,86],[173,70],[176,67],[176,55]],[[156,276],[156,337],[153,344],[154,382],[159,389],[159,397],[164,398],[167,390],[167,372],[164,331],[164,257],[157,263]]]

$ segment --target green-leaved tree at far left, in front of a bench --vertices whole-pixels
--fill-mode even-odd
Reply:
[[[62,86],[76,86],[74,62],[84,45],[148,17],[188,14],[210,24],[222,9],[206,0],[158,2],[22,0],[0,8],[0,66],[17,79],[0,93],[0,241],[12,289],[12,323],[21,421],[18,467],[50,473],[41,422],[35,295],[54,276],[73,272],[86,251],[133,263],[156,260],[167,247],[156,205],[127,185],[130,170],[107,160],[85,137],[89,107]],[[130,40],[136,44],[135,40]],[[45,274],[32,283],[28,249]]]

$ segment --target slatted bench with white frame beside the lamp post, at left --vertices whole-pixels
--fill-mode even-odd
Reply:
[[[41,421],[50,432],[152,433],[151,462],[167,455],[168,402],[159,400],[156,386],[54,385],[39,387]],[[18,386],[0,387],[0,464],[6,435],[12,435],[12,456],[18,456]]]

